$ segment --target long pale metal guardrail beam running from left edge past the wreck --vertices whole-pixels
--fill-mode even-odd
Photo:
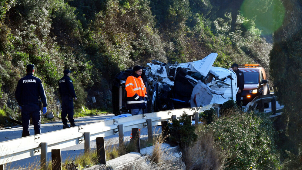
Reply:
[[[0,142],[0,165],[40,155],[41,143],[46,142],[48,150],[62,149],[84,143],[84,132],[89,132],[90,140],[94,140],[97,137],[107,137],[118,133],[118,125],[123,125],[126,132],[132,128],[146,127],[147,119],[152,119],[152,125],[156,126],[161,125],[161,121],[171,119],[172,115],[179,118],[184,112],[188,115],[194,115],[194,113],[219,106],[220,104],[210,104],[199,108],[146,113]]]

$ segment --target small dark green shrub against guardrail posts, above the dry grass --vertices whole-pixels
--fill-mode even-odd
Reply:
[[[192,145],[197,140],[195,134],[195,126],[192,126],[192,121],[186,113],[179,120],[172,119],[172,124],[169,127],[169,139],[172,142],[178,143],[180,147]]]

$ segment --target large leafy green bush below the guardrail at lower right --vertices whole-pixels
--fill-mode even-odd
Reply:
[[[272,122],[264,113],[238,113],[200,128],[198,134],[213,132],[216,145],[227,153],[225,169],[279,169]]]

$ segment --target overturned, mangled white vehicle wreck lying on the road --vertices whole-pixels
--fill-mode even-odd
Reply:
[[[235,99],[236,74],[228,69],[212,67],[217,53],[202,60],[166,64],[152,60],[143,67],[142,78],[147,87],[147,112],[186,107],[202,107],[212,103],[222,104]],[[112,84],[112,106],[115,115],[128,113],[125,82],[132,69],[116,75]]]

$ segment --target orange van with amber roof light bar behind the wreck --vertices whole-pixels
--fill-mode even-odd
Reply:
[[[267,75],[263,67],[259,67],[259,64],[239,64],[238,66],[244,76],[244,88],[241,93],[243,106],[257,96],[270,94]],[[230,70],[232,69],[230,68]],[[268,108],[269,103],[264,103],[264,107]]]

